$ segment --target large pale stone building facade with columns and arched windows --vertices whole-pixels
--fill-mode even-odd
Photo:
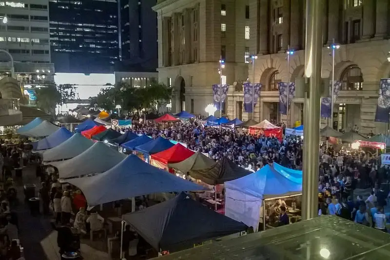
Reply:
[[[331,80],[333,41],[334,80],[342,81],[335,100],[333,126],[361,132],[385,133],[375,122],[379,81],[390,78],[390,1],[324,0],[322,77]],[[219,82],[218,60],[225,58],[222,75],[232,85],[226,102],[230,118],[247,120],[240,84],[248,78],[262,83],[254,107],[255,120],[286,122],[278,113],[277,82],[296,82],[302,92],[305,48],[305,0],[163,0],[154,7],[158,19],[160,82],[173,87],[173,112],[185,109],[205,114],[212,103],[212,84]],[[287,50],[294,50],[287,67]],[[254,71],[245,55],[257,55]],[[254,76],[254,77],[253,77]],[[296,95],[288,125],[303,124],[303,96]],[[286,122],[287,123],[287,122]],[[325,125],[326,120],[321,120]]]

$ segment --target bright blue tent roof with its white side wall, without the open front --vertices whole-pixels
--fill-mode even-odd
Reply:
[[[263,200],[300,195],[301,192],[302,184],[285,178],[266,165],[255,173],[225,182],[225,216],[244,222],[257,231]]]

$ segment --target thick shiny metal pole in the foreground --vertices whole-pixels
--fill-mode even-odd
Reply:
[[[306,1],[305,77],[310,86],[305,98],[302,218],[318,216],[319,125],[323,1]]]

